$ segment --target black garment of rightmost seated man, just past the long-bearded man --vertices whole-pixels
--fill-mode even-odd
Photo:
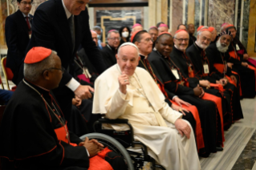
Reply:
[[[232,71],[235,71],[240,76],[241,80],[241,88],[242,88],[242,96],[246,98],[254,98],[255,97],[255,75],[254,71],[248,67],[243,67],[242,62],[246,62],[253,66],[250,62],[243,59],[242,53],[246,53],[246,49],[242,47],[242,43],[238,43],[238,39],[235,38],[232,42],[230,42],[230,46],[228,49],[230,58],[230,63],[234,63],[232,67]],[[240,46],[239,46],[240,44]],[[237,49],[237,46],[239,49]],[[240,53],[240,54],[239,54]]]

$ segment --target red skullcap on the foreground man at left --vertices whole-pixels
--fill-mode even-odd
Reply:
[[[51,55],[51,50],[45,47],[33,47],[26,54],[24,63],[39,63]]]

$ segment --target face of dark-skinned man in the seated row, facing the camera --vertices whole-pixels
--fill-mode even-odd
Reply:
[[[169,56],[173,51],[173,38],[163,34],[156,42],[156,50],[159,51],[161,55]]]

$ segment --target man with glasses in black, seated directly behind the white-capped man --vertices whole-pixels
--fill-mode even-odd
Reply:
[[[118,30],[108,31],[108,44],[102,49],[102,57],[107,67],[116,64],[117,48],[120,45],[120,34]]]

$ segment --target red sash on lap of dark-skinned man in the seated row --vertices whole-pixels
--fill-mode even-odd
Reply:
[[[209,93],[205,93],[205,95],[203,95],[203,97],[201,99],[206,99],[206,100],[212,101],[217,106],[217,111],[219,112],[220,118],[221,118],[221,136],[222,136],[222,144],[221,144],[221,146],[223,147],[224,146],[223,142],[225,141],[225,138],[224,138],[221,98],[219,98],[219,97],[217,97],[215,95],[210,95]]]

